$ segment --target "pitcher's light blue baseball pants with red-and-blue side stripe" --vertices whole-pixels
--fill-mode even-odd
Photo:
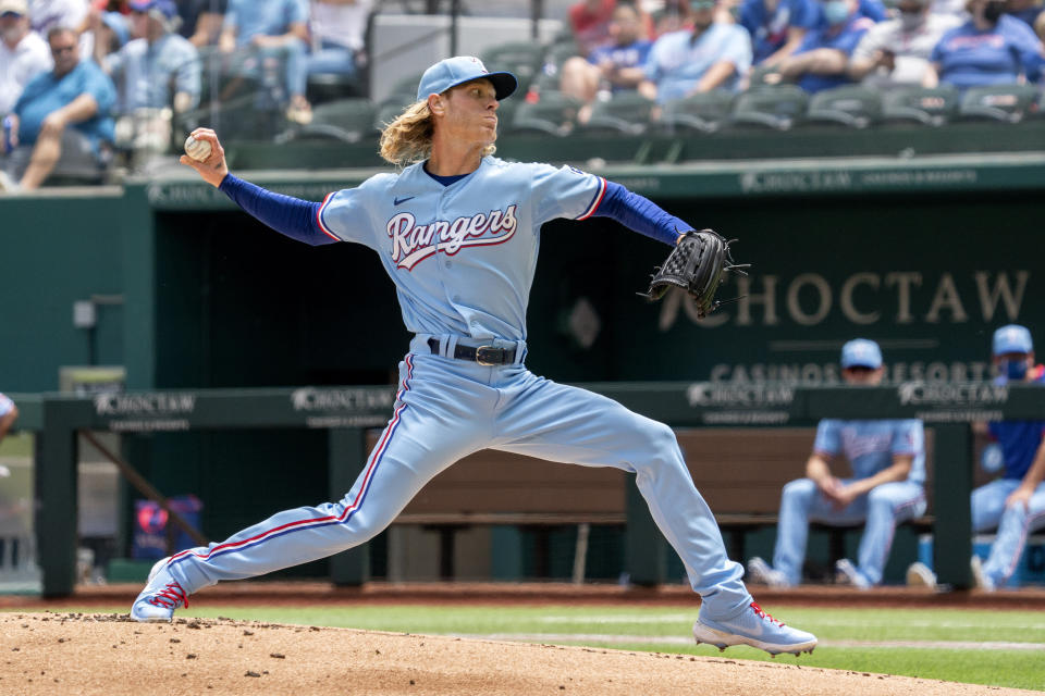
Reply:
[[[168,566],[174,580],[194,593],[353,548],[391,524],[439,472],[493,448],[634,473],[703,598],[701,616],[726,620],[750,605],[743,568],[726,557],[715,519],[668,426],[606,397],[539,377],[518,359],[488,368],[433,356],[427,338],[416,337],[399,364],[394,414],[342,500],[280,512],[221,544],[175,554]]]

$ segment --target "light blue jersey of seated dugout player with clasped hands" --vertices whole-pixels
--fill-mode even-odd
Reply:
[[[925,483],[925,428],[914,419],[890,421],[840,421],[825,419],[816,427],[813,449],[835,457],[844,455],[853,478],[869,478],[893,465],[893,458],[912,457],[911,483]]]

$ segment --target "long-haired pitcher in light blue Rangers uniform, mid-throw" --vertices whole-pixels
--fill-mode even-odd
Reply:
[[[497,107],[517,87],[477,58],[445,59],[421,77],[417,101],[389,124],[381,153],[398,167],[322,203],[279,196],[229,173],[213,130],[204,161],[182,163],[272,228],[311,245],[373,249],[415,334],[399,363],[389,425],[343,499],[279,512],[228,540],[161,559],[132,607],[171,621],[188,595],[325,558],[385,529],[418,490],[458,459],[494,448],[636,474],[653,519],[701,596],[698,643],[771,654],[816,638],[764,612],[726,556],[674,432],[604,396],[532,374],[526,306],[541,225],[607,216],[667,245],[691,225],[600,176],[493,157]]]

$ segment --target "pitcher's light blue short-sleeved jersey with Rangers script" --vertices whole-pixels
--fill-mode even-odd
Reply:
[[[415,164],[328,196],[319,223],[378,252],[410,332],[521,341],[541,225],[588,217],[605,189],[569,166],[487,157],[443,186]]]

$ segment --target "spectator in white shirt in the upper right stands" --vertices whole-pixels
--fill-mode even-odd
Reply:
[[[933,48],[961,20],[930,12],[931,0],[899,0],[899,16],[875,24],[849,61],[849,77],[871,87],[918,86],[925,78]]]

